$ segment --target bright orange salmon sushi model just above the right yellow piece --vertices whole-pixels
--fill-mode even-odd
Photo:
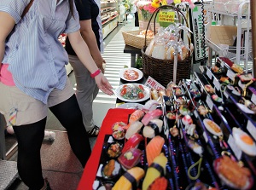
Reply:
[[[160,135],[155,136],[151,141],[149,141],[146,147],[148,166],[153,163],[154,158],[160,155],[164,143],[165,140]]]

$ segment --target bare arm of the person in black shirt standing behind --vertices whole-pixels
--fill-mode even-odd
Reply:
[[[85,43],[87,43],[88,48],[90,49],[90,55],[96,62],[96,65],[103,71],[102,63],[105,63],[105,60],[102,58],[97,45],[96,36],[92,31],[91,20],[80,20],[80,32]]]

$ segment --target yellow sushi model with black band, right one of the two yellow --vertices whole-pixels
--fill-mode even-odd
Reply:
[[[151,165],[149,165],[146,176],[143,180],[143,190],[148,190],[148,187],[157,178],[166,174],[166,164],[167,158],[164,153],[160,153],[160,155],[154,158],[154,161]]]

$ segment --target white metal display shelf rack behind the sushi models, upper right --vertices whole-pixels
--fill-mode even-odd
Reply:
[[[209,50],[209,61],[208,66],[212,64],[212,50],[216,51],[218,55],[226,56],[230,58],[230,60],[233,60],[236,62],[236,64],[240,66],[245,66],[247,68],[248,62],[252,62],[252,58],[250,55],[252,54],[252,49],[249,48],[249,36],[248,33],[250,31],[250,2],[244,1],[244,2],[231,2],[230,3],[218,3],[216,1],[212,2],[212,6],[209,6],[209,9],[207,9],[209,12],[212,13],[212,16],[214,14],[215,18],[222,18],[221,26],[224,26],[224,16],[230,16],[233,17],[234,25],[237,26],[237,36],[236,36],[236,47],[229,47],[228,48],[221,48],[219,44],[215,44],[212,42],[212,39],[210,39],[207,35],[206,43],[210,47]],[[214,17],[214,16],[213,16]],[[244,18],[246,18],[244,20]],[[246,21],[247,26],[246,28],[242,27],[242,22]],[[212,18],[210,18],[209,23],[212,23]],[[245,32],[247,32],[246,35]],[[243,35],[243,38],[242,38]],[[241,42],[244,42],[241,44]],[[241,61],[242,60],[242,61]]]

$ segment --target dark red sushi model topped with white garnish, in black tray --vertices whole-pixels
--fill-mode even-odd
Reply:
[[[118,160],[125,170],[129,170],[139,163],[142,155],[143,152],[140,149],[131,148],[130,150],[127,150],[125,153],[122,153],[119,156]]]

